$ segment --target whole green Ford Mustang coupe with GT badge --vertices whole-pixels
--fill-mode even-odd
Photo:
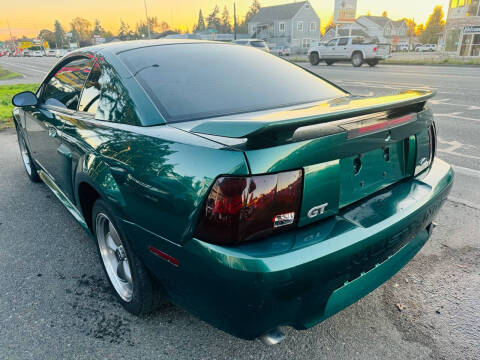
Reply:
[[[275,343],[399,271],[453,183],[433,93],[353,96],[254,48],[123,42],[13,98],[23,162],[134,314],[171,301]]]

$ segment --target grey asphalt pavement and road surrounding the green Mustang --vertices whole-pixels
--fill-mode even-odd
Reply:
[[[40,81],[53,62],[0,58],[23,82]],[[94,243],[45,185],[28,180],[6,130],[0,359],[480,358],[480,68],[302,65],[357,94],[437,89],[438,156],[455,166],[456,183],[432,239],[404,269],[310,330],[284,328],[287,338],[274,347],[236,339],[175,306],[131,316],[114,301]]]

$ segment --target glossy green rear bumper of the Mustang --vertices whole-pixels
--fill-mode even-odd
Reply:
[[[236,247],[196,239],[179,247],[146,234],[178,266],[140,251],[174,303],[220,329],[245,339],[305,329],[399,271],[428,240],[452,183],[437,159],[428,173],[295,231]]]

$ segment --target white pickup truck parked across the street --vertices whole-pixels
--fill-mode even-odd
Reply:
[[[380,60],[390,56],[390,45],[369,42],[361,36],[335,38],[327,43],[318,43],[308,50],[312,65],[318,65],[320,61],[325,61],[327,65],[339,61],[351,61],[355,67],[362,66],[363,63],[375,66]]]

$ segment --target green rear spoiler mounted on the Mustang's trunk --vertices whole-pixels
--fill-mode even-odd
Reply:
[[[435,95],[434,91],[409,90],[395,95],[378,97],[345,96],[308,107],[294,107],[280,111],[240,114],[231,117],[198,120],[174,124],[194,133],[251,138],[266,133],[284,132],[299,127],[349,119],[380,112],[422,107]]]

